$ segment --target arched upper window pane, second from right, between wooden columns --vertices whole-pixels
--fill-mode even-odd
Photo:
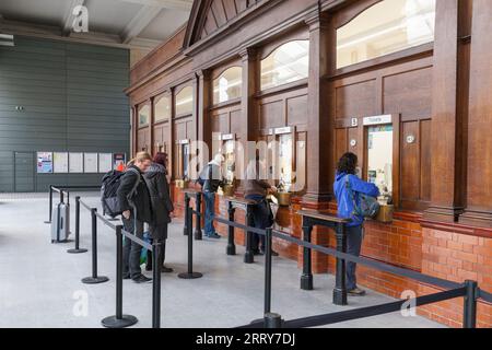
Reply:
[[[308,77],[309,42],[290,42],[261,61],[261,90]]]

